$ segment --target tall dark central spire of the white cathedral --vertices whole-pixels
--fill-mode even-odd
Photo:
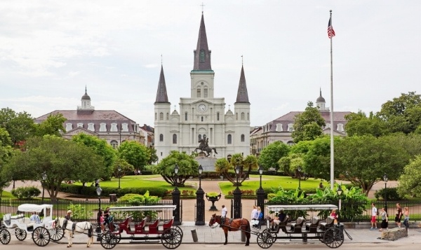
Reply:
[[[202,17],[200,21],[199,38],[197,39],[197,47],[194,50],[193,70],[212,70],[210,67],[210,50],[208,48],[208,38],[206,36],[205,20]]]

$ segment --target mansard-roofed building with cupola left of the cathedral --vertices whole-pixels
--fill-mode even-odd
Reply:
[[[77,106],[76,110],[55,110],[36,118],[34,122],[41,123],[48,116],[57,113],[61,113],[67,119],[63,123],[66,130],[63,134],[65,139],[72,139],[75,134],[85,133],[105,139],[113,148],[117,148],[126,140],[145,144],[144,132],[134,120],[114,110],[95,110],[95,107],[91,106],[91,97],[86,88],[85,95],[81,98],[81,106]]]

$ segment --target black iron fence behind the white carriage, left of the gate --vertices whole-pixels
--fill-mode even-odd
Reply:
[[[106,207],[132,207],[132,206],[159,206],[172,205],[172,200],[160,200],[159,202],[111,202],[110,200],[58,200],[55,202],[44,202],[53,204],[53,218],[64,217],[67,210],[72,210],[72,221],[97,221],[97,214],[99,207],[105,209]],[[44,204],[41,200],[17,200],[17,199],[0,199],[0,215],[3,214],[17,214],[20,204]],[[182,200],[180,201],[180,221],[182,221]],[[160,218],[162,221],[167,221],[173,218],[172,210],[152,211],[152,213],[144,213],[140,211],[128,212],[113,212],[112,215],[115,221],[122,221],[126,216],[134,214],[134,218],[144,218],[143,216],[151,216]],[[41,216],[44,216],[41,214]]]

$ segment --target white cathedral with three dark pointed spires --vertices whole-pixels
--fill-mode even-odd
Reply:
[[[208,146],[216,149],[215,158],[230,158],[234,153],[250,154],[250,102],[244,69],[241,66],[234,111],[225,113],[225,98],[214,97],[215,72],[210,65],[210,50],[203,13],[194,65],[190,71],[190,97],[180,97],[180,113],[171,113],[165,77],[161,66],[155,111],[155,149],[159,160],[170,151],[192,153],[206,136]]]

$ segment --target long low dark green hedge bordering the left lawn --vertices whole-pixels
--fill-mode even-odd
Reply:
[[[63,193],[72,193],[74,195],[85,195],[85,196],[98,196],[96,193],[97,187],[95,186],[77,186],[73,184],[62,183],[60,186],[60,191]],[[163,197],[166,194],[166,188],[152,188],[152,187],[142,187],[142,188],[111,188],[111,187],[101,187],[102,193],[101,196],[109,196],[110,194],[116,194],[117,197],[121,197],[128,193],[137,193],[139,195],[144,195],[146,191],[149,191],[149,195],[154,195],[158,197]]]

